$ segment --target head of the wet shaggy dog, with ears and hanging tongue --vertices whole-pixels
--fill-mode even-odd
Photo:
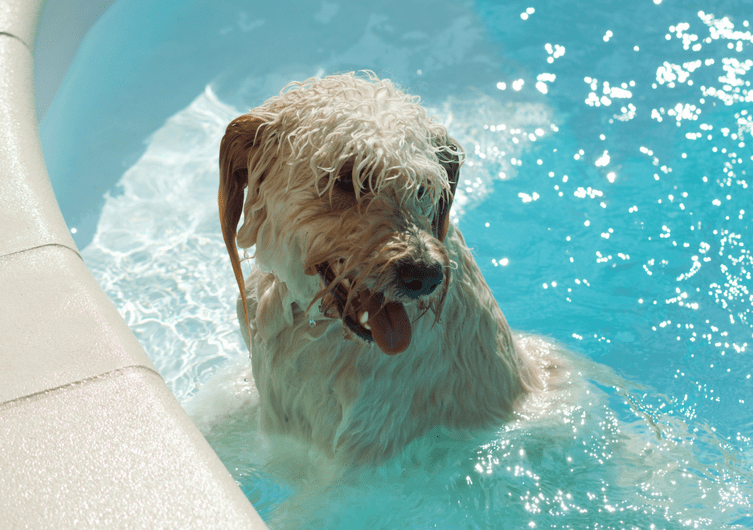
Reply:
[[[256,245],[257,264],[299,305],[404,351],[408,313],[438,319],[447,293],[461,153],[416,98],[375,77],[294,84],[236,119],[220,149],[219,202],[241,292],[243,209],[237,244]]]

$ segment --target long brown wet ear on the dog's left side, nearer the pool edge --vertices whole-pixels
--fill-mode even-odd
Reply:
[[[248,186],[249,152],[256,144],[256,136],[261,124],[262,121],[259,118],[248,114],[236,118],[227,126],[220,144],[220,190],[217,198],[220,207],[220,226],[225,247],[230,255],[235,280],[241,291],[243,315],[246,318],[247,328],[250,328],[250,324],[246,284],[243,281],[235,238],[241,212],[243,212],[243,190]]]

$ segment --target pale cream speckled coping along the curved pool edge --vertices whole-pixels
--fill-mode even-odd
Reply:
[[[266,528],[89,273],[34,110],[44,0],[0,0],[0,529]]]

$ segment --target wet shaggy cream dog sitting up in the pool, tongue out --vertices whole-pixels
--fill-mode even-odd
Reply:
[[[372,72],[291,83],[228,125],[220,221],[264,429],[379,462],[547,388],[556,362],[520,347],[450,221],[463,158]]]

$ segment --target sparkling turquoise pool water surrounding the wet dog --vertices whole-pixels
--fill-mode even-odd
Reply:
[[[750,0],[120,0],[43,147],[87,264],[271,528],[753,528],[751,19]],[[542,417],[338,469],[256,429],[217,151],[288,81],[361,68],[465,146],[453,220],[511,326],[580,375]]]

